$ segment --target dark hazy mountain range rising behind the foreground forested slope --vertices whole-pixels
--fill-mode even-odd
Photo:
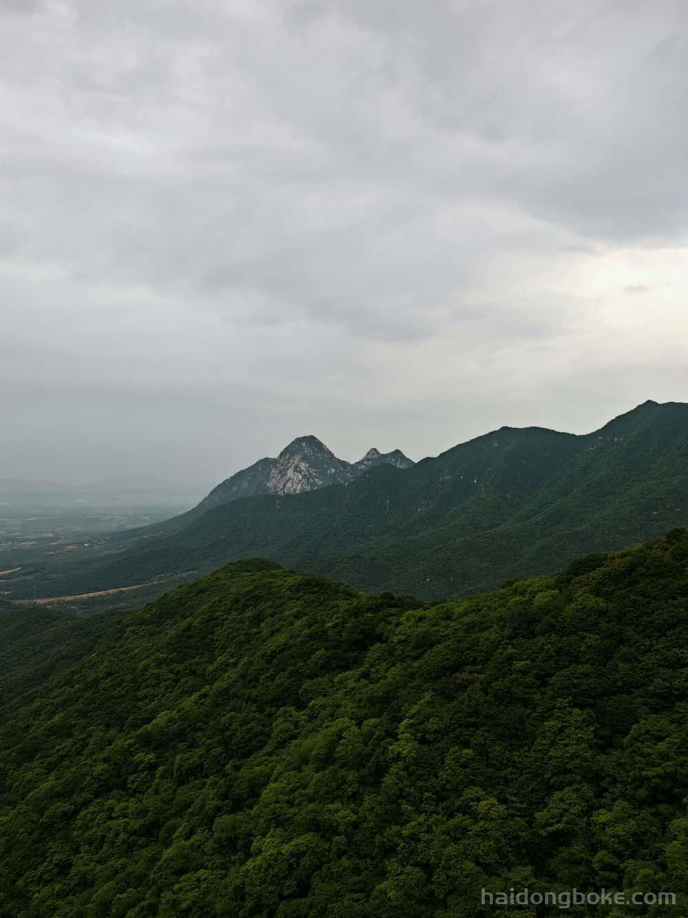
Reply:
[[[276,487],[305,487],[337,468],[315,438],[302,442],[298,476],[287,472]],[[62,570],[36,565],[11,585],[12,598],[38,583],[44,596],[137,587],[129,602],[150,599],[174,577],[250,556],[356,588],[458,597],[688,521],[688,405],[676,402],[645,402],[589,434],[503,427],[416,465],[375,463],[343,483],[232,499],[241,476],[264,488],[275,468],[295,467],[284,458],[227,479],[180,517],[109,537]]]

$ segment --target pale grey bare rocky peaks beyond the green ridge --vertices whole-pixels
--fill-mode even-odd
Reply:
[[[217,485],[199,507],[208,509],[236,498],[252,498],[261,494],[300,494],[327,485],[341,485],[373,465],[385,464],[396,468],[414,465],[400,450],[380,453],[374,448],[358,462],[349,463],[338,459],[317,437],[297,437],[284,447],[276,459],[260,459]]]

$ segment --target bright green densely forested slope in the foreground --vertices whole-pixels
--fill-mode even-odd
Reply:
[[[0,913],[472,918],[516,913],[483,889],[682,893],[687,612],[685,530],[434,605],[228,565],[0,716]]]

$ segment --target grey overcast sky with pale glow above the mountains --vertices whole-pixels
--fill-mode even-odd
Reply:
[[[0,0],[0,477],[688,401],[685,0]]]

